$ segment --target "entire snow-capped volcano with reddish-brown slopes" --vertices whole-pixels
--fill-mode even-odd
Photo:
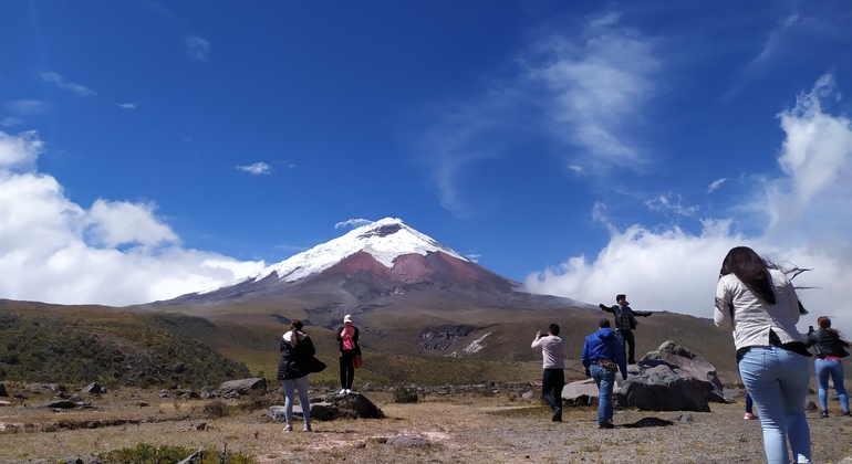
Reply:
[[[438,241],[386,218],[354,229],[258,275],[208,292],[154,305],[248,303],[299,307],[313,323],[382,307],[401,310],[458,307],[563,307],[571,302],[520,291],[502,277]]]

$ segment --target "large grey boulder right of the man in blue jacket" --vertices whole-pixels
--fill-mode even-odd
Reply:
[[[613,391],[617,407],[643,411],[709,412],[708,401],[726,402],[716,368],[671,340],[645,355]]]

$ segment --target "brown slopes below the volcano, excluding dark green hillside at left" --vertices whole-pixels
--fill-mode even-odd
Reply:
[[[336,359],[333,334],[336,326],[324,324],[323,319],[319,320],[322,326],[316,326],[318,309],[305,299],[256,299],[160,308],[164,309],[208,318],[221,330],[266,333],[273,340],[287,330],[289,320],[299,318],[305,320],[305,330],[318,347],[318,356],[326,361]],[[380,300],[355,316],[366,359],[365,369],[356,377],[382,382],[417,379],[426,383],[458,382],[460,378],[470,382],[534,379],[541,354],[531,349],[530,344],[536,331],[547,330],[550,323],[561,326],[561,335],[568,342],[569,376],[580,377],[583,373],[579,361],[583,340],[595,330],[602,317],[612,320],[611,314],[598,308],[484,307],[444,296],[401,295],[394,303]],[[724,381],[739,380],[730,334],[719,330],[710,319],[654,313],[648,318],[640,318],[635,334],[640,356],[671,339],[716,366]],[[240,348],[236,342],[242,337],[230,338],[232,346],[216,346],[228,356],[245,361],[252,372],[274,369],[277,341],[266,348],[248,348],[241,342],[243,347]],[[329,381],[334,380],[335,372],[328,376]],[[325,372],[320,377],[325,379]]]

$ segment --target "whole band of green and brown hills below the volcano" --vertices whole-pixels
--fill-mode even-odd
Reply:
[[[355,317],[365,358],[357,386],[534,381],[541,354],[530,344],[550,323],[561,326],[568,342],[568,377],[580,379],[584,337],[602,317],[612,320],[600,309],[519,310],[434,296],[408,303],[371,307]],[[311,382],[336,386],[336,327],[312,323],[310,305],[257,299],[165,309],[179,313],[0,300],[0,379],[201,386],[273,378],[280,337],[299,318],[316,356],[331,365]],[[654,313],[640,318],[635,334],[640,356],[675,340],[713,363],[724,382],[739,381],[730,334],[709,319]]]

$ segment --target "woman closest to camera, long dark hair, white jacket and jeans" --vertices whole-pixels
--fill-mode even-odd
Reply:
[[[769,463],[811,462],[804,399],[810,354],[796,324],[799,298],[787,276],[754,250],[737,246],[719,271],[714,321],[734,330],[742,383],[755,401]]]

